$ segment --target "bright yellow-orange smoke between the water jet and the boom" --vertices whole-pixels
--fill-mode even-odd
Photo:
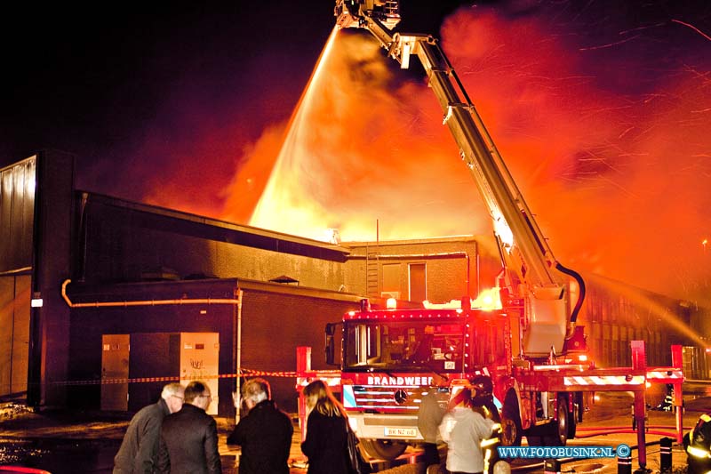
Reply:
[[[314,238],[337,228],[348,240],[374,240],[376,221],[380,238],[470,233],[472,222],[485,225],[475,189],[452,187],[469,178],[458,159],[449,159],[457,151],[427,88],[396,84],[368,36],[339,35],[285,137],[263,137],[257,149],[272,153],[248,160],[276,162],[251,224]],[[278,159],[277,138],[284,143]],[[241,170],[236,189],[249,181],[264,176]]]

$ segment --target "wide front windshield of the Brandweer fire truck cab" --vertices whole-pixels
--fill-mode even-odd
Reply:
[[[461,372],[463,334],[457,323],[351,321],[346,325],[344,367]]]

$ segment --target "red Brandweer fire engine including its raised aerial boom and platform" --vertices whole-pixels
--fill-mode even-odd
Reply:
[[[593,390],[634,391],[643,426],[643,341],[633,341],[632,367],[601,369],[587,360],[583,327],[576,325],[584,281],[556,261],[436,39],[395,33],[396,1],[337,0],[335,16],[339,28],[369,31],[402,68],[419,59],[491,213],[502,261],[493,305],[464,298],[458,308],[372,310],[363,300],[359,311],[326,326],[326,361],[337,364],[340,349],[341,397],[364,450],[380,459],[402,454],[422,439],[417,411],[427,391],[446,404],[458,387],[477,381],[480,395],[491,392],[484,396],[505,446],[520,445],[524,436],[530,445],[565,445]],[[683,380],[678,367],[664,374],[657,382]]]

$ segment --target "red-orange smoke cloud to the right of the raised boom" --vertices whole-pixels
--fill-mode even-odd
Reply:
[[[691,62],[698,58],[656,41],[675,41],[659,29],[694,32],[667,22],[630,42],[620,33],[625,44],[598,51],[571,25],[555,30],[542,18],[459,12],[443,38],[556,255],[576,269],[703,300],[711,83]]]

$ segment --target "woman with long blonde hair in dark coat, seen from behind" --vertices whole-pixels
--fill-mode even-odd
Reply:
[[[348,474],[346,410],[320,380],[304,387],[304,397],[309,414],[301,451],[308,457],[308,474]]]

